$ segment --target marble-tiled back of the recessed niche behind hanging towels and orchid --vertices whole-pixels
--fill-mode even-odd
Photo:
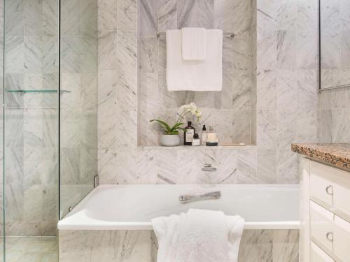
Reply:
[[[214,126],[221,144],[232,145],[251,141],[251,94],[256,92],[252,78],[252,43],[256,30],[253,2],[249,1],[151,1],[139,0],[139,145],[159,145],[162,129],[150,119],[176,122],[176,112],[186,103],[195,102],[202,110],[200,123],[193,121],[196,132],[203,124]],[[222,29],[223,90],[222,92],[168,92],[165,32],[182,27]],[[157,33],[163,33],[159,37]],[[232,38],[230,34],[234,33]],[[191,118],[190,118],[191,119]],[[192,119],[191,119],[192,120]],[[181,132],[182,134],[182,132]]]

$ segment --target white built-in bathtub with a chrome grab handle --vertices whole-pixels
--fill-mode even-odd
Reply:
[[[220,199],[179,202],[183,194],[218,190]],[[100,185],[58,222],[58,229],[152,230],[153,217],[188,208],[239,214],[245,229],[298,229],[299,185]]]

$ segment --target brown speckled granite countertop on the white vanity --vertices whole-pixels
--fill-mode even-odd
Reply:
[[[350,171],[350,143],[292,144],[292,151]]]

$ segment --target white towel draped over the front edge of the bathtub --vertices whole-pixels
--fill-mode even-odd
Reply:
[[[235,262],[244,219],[223,212],[190,209],[152,219],[158,262]]]

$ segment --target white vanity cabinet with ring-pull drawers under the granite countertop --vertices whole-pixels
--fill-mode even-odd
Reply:
[[[350,172],[303,159],[302,181],[302,261],[350,262]]]

